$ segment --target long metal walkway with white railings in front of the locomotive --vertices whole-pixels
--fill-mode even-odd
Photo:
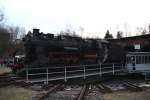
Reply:
[[[38,71],[37,71],[38,70]],[[40,70],[40,73],[39,73]],[[28,68],[26,67],[26,81],[27,82],[46,82],[54,80],[64,80],[71,78],[112,73],[124,72],[123,64],[93,64],[93,65],[79,65],[79,66],[64,66],[64,67],[42,67],[42,68]]]

